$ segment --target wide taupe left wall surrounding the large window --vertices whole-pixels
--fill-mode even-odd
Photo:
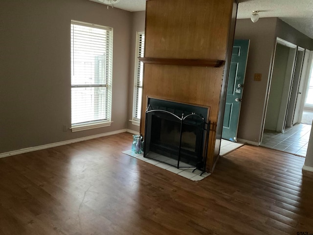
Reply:
[[[72,133],[70,20],[113,27],[112,125]],[[127,128],[132,13],[88,0],[0,1],[0,153]]]

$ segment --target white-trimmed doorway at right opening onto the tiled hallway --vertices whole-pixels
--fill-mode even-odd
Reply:
[[[301,118],[309,67],[311,72],[309,54],[304,48],[277,39],[262,146],[306,155],[311,125],[301,123]]]

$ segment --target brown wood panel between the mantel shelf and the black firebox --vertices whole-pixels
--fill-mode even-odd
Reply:
[[[219,88],[222,85],[223,68],[162,66],[146,64],[143,84],[143,109],[141,132],[144,133],[147,97],[193,105],[209,106],[211,122],[217,121]],[[217,79],[220,77],[220,79]],[[218,89],[217,89],[218,88]]]

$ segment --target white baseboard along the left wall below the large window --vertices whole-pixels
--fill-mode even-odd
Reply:
[[[66,144],[70,144],[70,143],[76,143],[76,142],[80,142],[80,141],[88,141],[91,139],[96,139],[96,138],[104,137],[104,136],[111,136],[111,135],[115,135],[115,134],[119,134],[119,133],[123,133],[123,132],[129,132],[129,130],[128,129],[122,129],[122,130],[102,133],[102,134],[93,135],[93,136],[82,137],[82,138],[68,140],[68,141],[61,141],[61,142],[48,143],[48,144],[35,146],[35,147],[22,148],[19,150],[0,153],[0,158],[5,158],[8,156],[13,156],[13,155],[22,154],[22,153],[28,153],[28,152],[37,151],[37,150],[46,149],[46,148],[57,147],[57,146],[66,145]],[[138,134],[138,133],[136,132],[135,134]]]

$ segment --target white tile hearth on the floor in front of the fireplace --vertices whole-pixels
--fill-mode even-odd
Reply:
[[[182,177],[185,177],[187,179],[190,179],[192,181],[199,181],[199,180],[202,180],[204,179],[205,177],[209,176],[210,173],[203,173],[201,176],[200,174],[202,173],[202,171],[200,170],[195,170],[194,172],[192,172],[195,167],[188,167],[188,168],[177,168],[177,167],[174,167],[174,166],[171,166],[171,165],[168,165],[168,164],[164,164],[164,163],[160,163],[158,161],[155,161],[155,160],[152,160],[152,159],[149,159],[149,158],[144,158],[143,157],[143,154],[135,154],[132,150],[127,150],[127,151],[124,151],[122,152],[124,154],[127,154],[129,156],[132,156],[136,159],[139,159],[139,160],[142,160],[146,163],[150,163],[150,164],[153,164],[153,165],[156,165],[158,167],[161,167],[163,169],[166,169],[168,171],[171,171],[175,174],[178,174]],[[159,155],[160,157],[164,157],[162,155]]]

